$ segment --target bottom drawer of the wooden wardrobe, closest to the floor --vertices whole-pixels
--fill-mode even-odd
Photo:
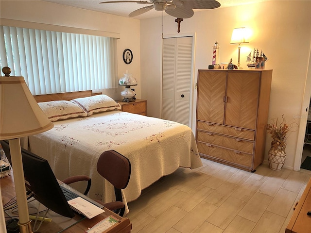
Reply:
[[[211,144],[197,142],[199,153],[219,159],[221,161],[236,164],[238,166],[247,166],[252,168],[253,155],[241,151],[234,151],[220,148]]]

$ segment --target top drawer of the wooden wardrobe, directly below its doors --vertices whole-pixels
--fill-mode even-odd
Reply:
[[[242,128],[235,128],[225,125],[216,125],[213,123],[197,121],[197,129],[206,130],[213,133],[221,133],[233,137],[240,137],[244,139],[254,140],[255,131],[245,130]]]

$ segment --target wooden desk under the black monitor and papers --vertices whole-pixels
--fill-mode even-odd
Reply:
[[[7,203],[9,200],[11,200],[12,198],[16,196],[13,176],[7,176],[4,178],[1,178],[0,188],[1,188],[1,195],[3,198],[3,203]],[[103,220],[105,217],[110,216],[110,215],[119,219],[120,222],[110,227],[104,233],[130,233],[131,232],[132,223],[130,223],[130,220],[128,218],[121,217],[106,208],[104,208],[104,211],[105,212],[103,214],[93,217],[92,219],[88,219],[88,218],[83,219],[82,221],[62,231],[62,233],[85,233],[85,231],[88,228],[91,228],[96,223],[98,223],[99,221]],[[62,216],[58,215],[58,217],[61,218]],[[70,219],[67,217],[64,217],[64,218]],[[78,214],[75,217],[73,217],[73,219],[76,219],[77,221],[79,221],[79,219],[81,218],[82,217],[79,216]],[[60,228],[52,220],[52,222],[49,222],[49,223],[43,222],[39,230],[41,233],[57,233],[57,232],[60,232],[62,228]]]

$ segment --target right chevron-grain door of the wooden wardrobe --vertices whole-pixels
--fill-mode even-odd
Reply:
[[[256,129],[259,72],[228,72],[225,125]]]

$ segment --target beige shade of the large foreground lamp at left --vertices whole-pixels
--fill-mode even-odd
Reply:
[[[0,77],[0,139],[13,139],[53,128],[23,77]]]

